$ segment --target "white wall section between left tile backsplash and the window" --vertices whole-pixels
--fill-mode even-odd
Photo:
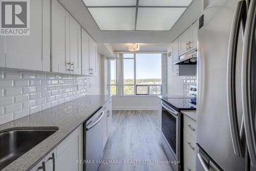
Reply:
[[[104,57],[102,57],[99,53],[97,53],[97,75],[87,77],[87,94],[88,95],[101,95],[103,93],[103,80],[104,75],[102,70],[102,61]]]

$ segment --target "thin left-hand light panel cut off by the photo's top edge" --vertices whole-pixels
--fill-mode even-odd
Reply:
[[[83,0],[86,6],[135,6],[136,0]]]

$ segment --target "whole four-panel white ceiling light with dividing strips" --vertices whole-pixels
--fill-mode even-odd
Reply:
[[[169,31],[192,0],[83,0],[100,30]]]

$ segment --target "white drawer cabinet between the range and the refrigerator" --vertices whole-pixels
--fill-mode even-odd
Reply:
[[[184,155],[184,170],[196,171],[196,139],[193,137],[194,131],[190,129],[191,126],[196,125],[196,122],[184,115],[184,129],[183,129],[183,155]],[[189,126],[188,126],[189,125]],[[191,135],[193,133],[193,135]]]

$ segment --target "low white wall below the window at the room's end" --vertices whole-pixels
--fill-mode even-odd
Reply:
[[[159,110],[158,96],[113,96],[113,110]]]

